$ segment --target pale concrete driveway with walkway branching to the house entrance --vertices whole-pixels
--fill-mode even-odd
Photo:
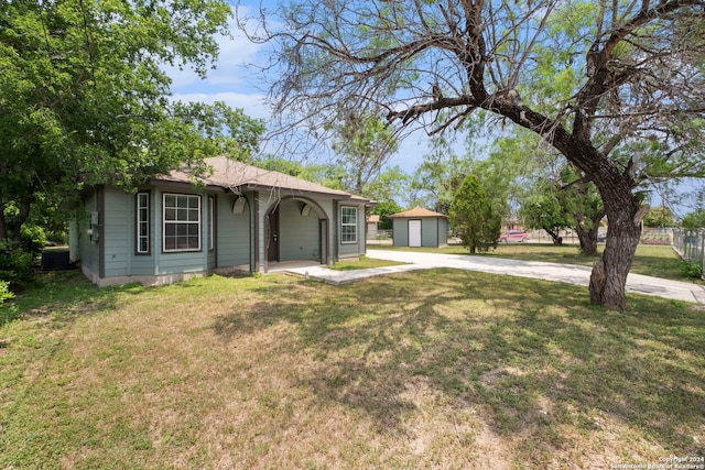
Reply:
[[[573,264],[542,263],[538,261],[507,260],[489,256],[466,256],[458,254],[420,253],[395,250],[368,250],[368,258],[401,261],[410,264],[372,267],[368,270],[334,271],[324,266],[294,267],[289,273],[315,278],[328,284],[346,284],[368,277],[414,270],[452,267],[457,270],[481,271],[520,277],[533,277],[545,281],[564,282],[587,286],[589,266]],[[669,281],[660,277],[629,274],[627,292],[654,295],[684,302],[705,304],[705,287],[697,284]]]

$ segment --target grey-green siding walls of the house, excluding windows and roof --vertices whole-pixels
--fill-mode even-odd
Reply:
[[[82,216],[72,223],[72,245],[95,282],[102,267],[104,280],[130,282],[130,276],[142,276],[141,281],[171,282],[180,273],[202,273],[215,267],[253,266],[254,255],[259,255],[260,267],[265,265],[264,236],[265,214],[274,204],[280,204],[280,260],[321,261],[322,254],[329,260],[365,254],[365,205],[336,200],[333,196],[281,196],[278,192],[249,193],[249,203],[239,214],[232,212],[236,196],[221,192],[200,192],[194,188],[149,187],[150,195],[150,252],[135,253],[135,195],[116,187],[106,187],[102,199],[104,226],[100,243],[91,241],[88,234],[91,212],[98,211],[98,197],[89,193],[84,199]],[[142,192],[142,190],[141,190]],[[163,195],[193,194],[202,197],[202,233],[199,251],[164,252],[162,250],[162,204]],[[256,214],[256,194],[259,210]],[[215,196],[215,249],[209,250],[208,196]],[[303,211],[304,206],[310,210]],[[341,243],[339,207],[352,206],[358,209],[357,242]],[[327,220],[321,231],[321,220]],[[254,221],[260,229],[256,230]],[[259,240],[256,240],[259,237]],[[327,237],[327,239],[326,239]],[[258,242],[256,244],[256,242]],[[324,253],[322,245],[326,247]],[[254,253],[257,251],[259,253]],[[102,253],[100,250],[102,248]],[[73,255],[73,254],[72,254]],[[102,259],[100,259],[102,255]],[[325,261],[325,260],[324,260]],[[164,276],[164,277],[160,277]],[[104,283],[105,284],[105,283]]]

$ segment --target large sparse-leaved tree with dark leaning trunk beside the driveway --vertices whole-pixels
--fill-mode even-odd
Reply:
[[[290,130],[321,132],[340,103],[384,109],[395,135],[457,130],[485,110],[594,182],[621,243],[607,252],[627,252],[596,267],[600,305],[623,307],[615,259],[636,250],[639,182],[705,174],[705,0],[297,0],[281,20],[260,31]]]

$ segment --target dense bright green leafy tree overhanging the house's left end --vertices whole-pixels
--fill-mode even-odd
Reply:
[[[203,159],[247,159],[262,122],[169,100],[165,65],[205,76],[227,34],[220,0],[0,3],[0,238],[84,185],[133,187]],[[17,208],[12,220],[6,209]]]

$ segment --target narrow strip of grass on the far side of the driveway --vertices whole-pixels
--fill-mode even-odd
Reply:
[[[459,244],[443,248],[398,248],[369,244],[367,248],[370,250],[405,250],[470,255],[467,249]],[[600,253],[604,249],[604,244],[598,245]],[[582,264],[585,266],[592,266],[595,261],[597,261],[597,258],[583,255],[576,244],[556,247],[547,243],[500,243],[496,250],[490,249],[490,251],[486,253],[477,253],[476,255],[510,258],[525,261],[545,261],[549,263]],[[665,245],[640,244],[637,248],[631,272],[674,281],[698,282],[683,273],[681,259],[671,247]]]

